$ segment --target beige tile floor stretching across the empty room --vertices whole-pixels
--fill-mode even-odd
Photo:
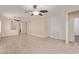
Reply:
[[[12,54],[63,54],[79,53],[79,43],[65,44],[53,38],[39,38],[31,35],[4,37],[0,40],[0,53]]]

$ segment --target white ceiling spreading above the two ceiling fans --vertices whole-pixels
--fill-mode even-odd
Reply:
[[[0,5],[0,15],[13,17],[29,17],[31,13],[24,13],[24,10],[33,10],[32,5]],[[78,5],[38,5],[38,10],[48,10],[49,16],[63,15],[65,11],[79,8]]]

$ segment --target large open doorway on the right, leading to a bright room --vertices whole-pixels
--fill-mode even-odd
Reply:
[[[79,42],[79,10],[68,13],[66,26],[66,41],[67,42]]]

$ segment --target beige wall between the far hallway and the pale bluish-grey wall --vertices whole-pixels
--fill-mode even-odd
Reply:
[[[38,37],[47,37],[47,15],[30,17],[27,22],[27,33]]]

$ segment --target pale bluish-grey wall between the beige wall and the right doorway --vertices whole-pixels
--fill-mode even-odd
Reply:
[[[48,19],[48,36],[65,40],[66,22],[65,16],[57,15]]]

